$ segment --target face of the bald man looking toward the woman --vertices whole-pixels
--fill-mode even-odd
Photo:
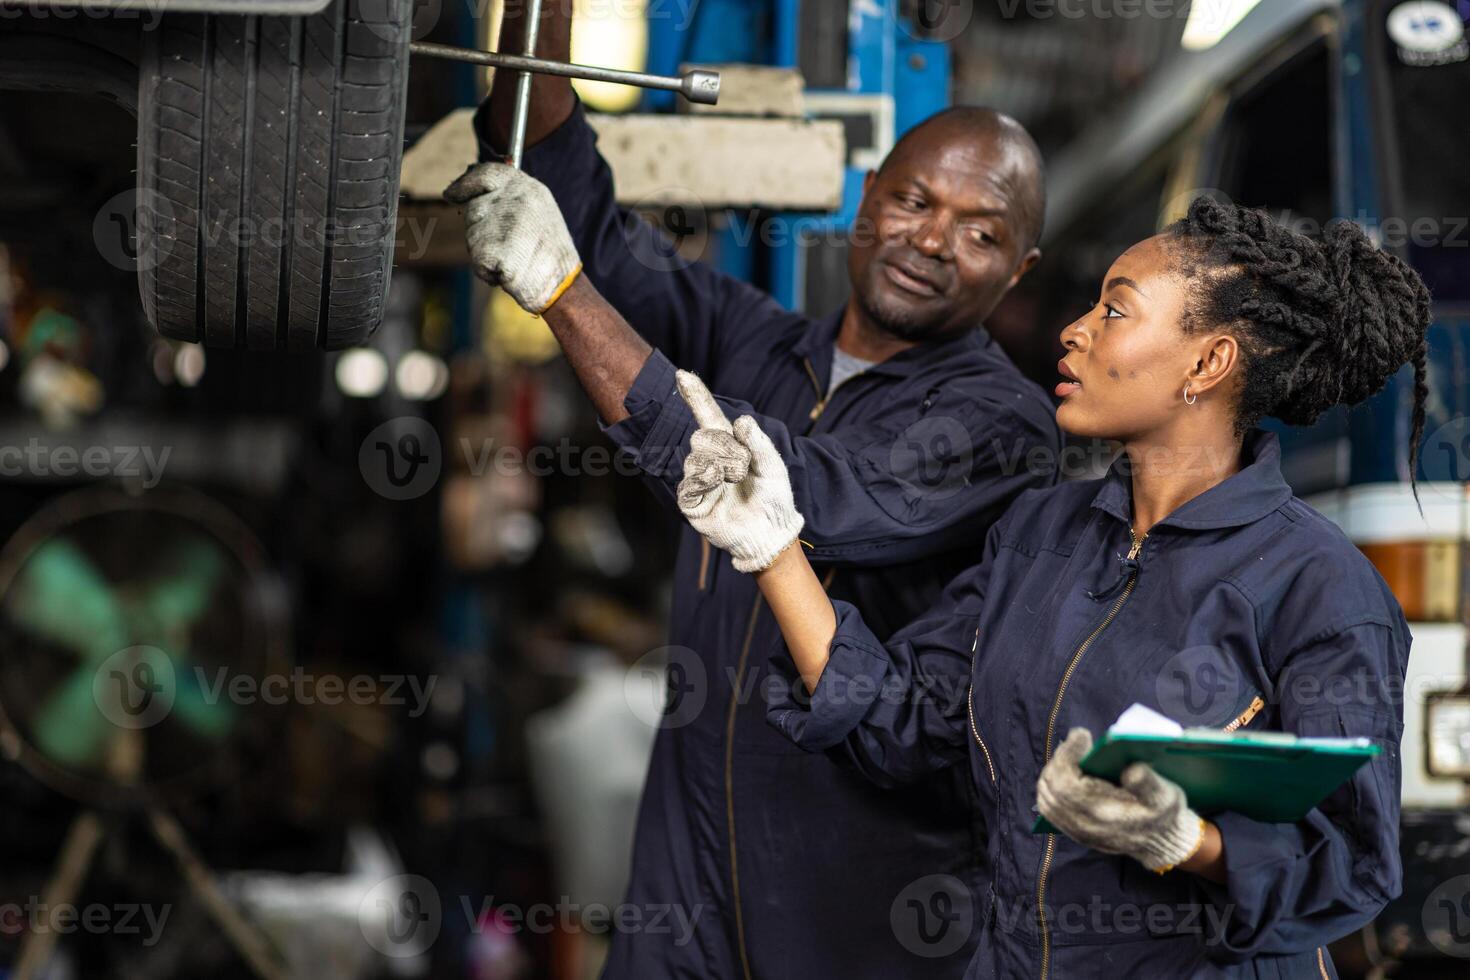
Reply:
[[[1020,213],[1030,157],[1003,138],[914,134],[867,175],[847,270],[882,331],[922,341],[980,323],[1036,262]]]

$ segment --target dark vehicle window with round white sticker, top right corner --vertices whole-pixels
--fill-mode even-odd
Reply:
[[[1401,6],[1424,10],[1420,21]],[[1461,4],[1464,9],[1464,4]],[[1455,18],[1441,22],[1430,16]],[[1448,4],[1379,4],[1372,29],[1382,85],[1382,138],[1396,187],[1383,241],[1401,248],[1438,301],[1470,301],[1470,31]]]

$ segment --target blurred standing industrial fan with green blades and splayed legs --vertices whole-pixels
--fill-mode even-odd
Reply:
[[[0,751],[79,801],[46,887],[72,904],[101,839],[141,817],[223,936],[260,977],[279,955],[222,895],[169,802],[226,779],[250,727],[241,691],[281,670],[281,616],[253,535],[198,494],[79,491],[0,550]],[[241,686],[245,679],[245,686]],[[31,933],[13,976],[56,943]]]

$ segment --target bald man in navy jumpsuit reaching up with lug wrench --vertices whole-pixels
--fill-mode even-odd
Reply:
[[[501,50],[522,34],[510,4]],[[537,54],[569,50],[570,4],[550,3]],[[514,82],[497,76],[476,113],[482,160],[509,143]],[[1035,464],[1060,450],[1051,401],[983,328],[1039,257],[1032,138],[988,109],[908,131],[864,181],[851,298],[810,317],[704,263],[669,269],[667,244],[614,203],[570,82],[534,85],[523,172],[487,162],[445,191],[465,206],[476,273],[545,319],[670,507],[701,420],[751,414],[785,460],[800,547],[829,594],[879,639],[914,619],[1011,498],[1054,482]],[[676,367],[709,383],[682,385],[697,411]],[[692,652],[670,670],[682,691],[654,743],[628,904],[697,909],[698,926],[684,943],[614,934],[603,976],[960,977],[985,887],[963,767],[878,789],[767,727],[767,677],[788,683],[781,633],[754,579],[688,527],[670,644]],[[936,696],[964,711],[963,691]]]

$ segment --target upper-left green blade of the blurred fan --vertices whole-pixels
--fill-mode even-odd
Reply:
[[[101,660],[126,645],[112,583],[68,541],[40,545],[10,595],[12,620],[84,660]]]

